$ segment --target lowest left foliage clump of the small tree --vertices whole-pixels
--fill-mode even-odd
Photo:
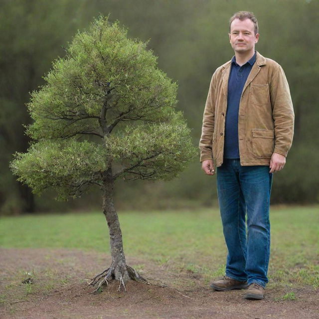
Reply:
[[[16,153],[11,163],[19,181],[28,184],[35,193],[52,186],[58,198],[80,195],[90,183],[101,179],[107,167],[105,148],[87,141],[41,141],[28,153]]]

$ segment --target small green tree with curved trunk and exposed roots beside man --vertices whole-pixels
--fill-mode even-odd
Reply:
[[[10,164],[35,193],[52,187],[67,199],[92,185],[103,191],[112,264],[92,280],[97,289],[111,279],[123,286],[130,278],[145,282],[126,264],[113,203],[116,178],[170,179],[195,154],[182,114],[174,111],[177,85],[146,45],[103,16],[78,32],[46,84],[32,92],[26,134],[34,142]]]

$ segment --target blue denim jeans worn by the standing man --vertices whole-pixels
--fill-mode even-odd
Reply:
[[[263,287],[268,283],[270,255],[269,202],[273,174],[269,169],[241,166],[240,160],[224,160],[217,167],[218,201],[228,249],[226,276]]]

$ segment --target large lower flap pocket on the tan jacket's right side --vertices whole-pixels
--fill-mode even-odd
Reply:
[[[270,159],[275,149],[274,131],[252,130],[252,144],[255,158]]]

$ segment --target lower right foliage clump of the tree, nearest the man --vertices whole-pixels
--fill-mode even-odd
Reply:
[[[106,138],[107,149],[124,168],[124,179],[170,179],[186,167],[194,153],[189,129],[181,113],[172,113],[170,123],[126,127]]]

